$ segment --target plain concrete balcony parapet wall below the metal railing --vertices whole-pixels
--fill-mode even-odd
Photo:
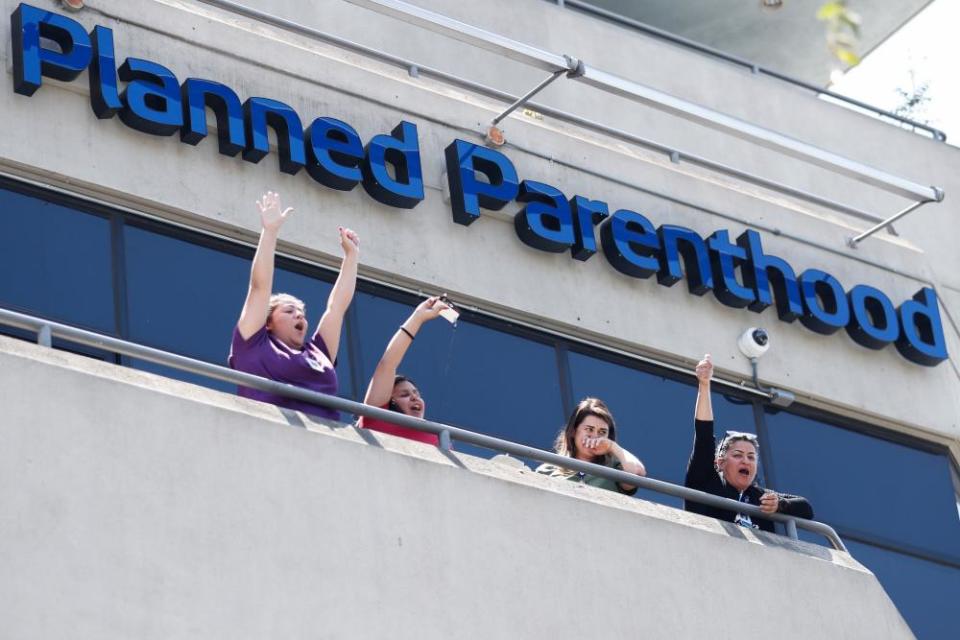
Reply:
[[[9,338],[0,390],[4,638],[912,637],[822,547]]]

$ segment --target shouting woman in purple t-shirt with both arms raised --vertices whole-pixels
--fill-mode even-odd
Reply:
[[[228,363],[238,371],[336,395],[337,372],[333,367],[340,346],[343,317],[356,289],[360,239],[350,229],[340,227],[343,249],[340,275],[327,299],[327,309],[316,332],[307,339],[310,325],[303,301],[286,293],[271,294],[277,236],[293,208],[284,209],[279,194],[272,191],[257,201],[257,207],[262,226],[260,242],[250,269],[247,299],[233,330]],[[332,420],[340,418],[340,413],[334,409],[257,389],[239,387],[238,391],[245,398]]]

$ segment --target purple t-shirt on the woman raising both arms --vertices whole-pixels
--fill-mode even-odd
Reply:
[[[337,395],[337,371],[330,362],[330,352],[319,333],[314,334],[313,339],[303,346],[303,351],[296,351],[274,338],[266,327],[250,336],[249,340],[244,340],[240,330],[234,327],[233,344],[230,345],[227,363],[237,371],[286,382],[311,391]],[[278,407],[312,413],[331,420],[340,419],[340,412],[335,409],[301,400],[240,386],[237,387],[237,392],[244,398],[269,402]]]

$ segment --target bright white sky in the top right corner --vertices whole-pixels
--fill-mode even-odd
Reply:
[[[854,11],[856,0],[847,3]],[[865,20],[869,16],[864,17]],[[899,31],[840,75],[831,90],[893,111],[903,103],[896,89],[908,92],[928,84],[930,98],[911,117],[940,129],[949,144],[960,146],[960,0],[934,0]]]

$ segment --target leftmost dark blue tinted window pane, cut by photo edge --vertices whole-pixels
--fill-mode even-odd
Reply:
[[[0,190],[0,304],[113,334],[110,221]]]

